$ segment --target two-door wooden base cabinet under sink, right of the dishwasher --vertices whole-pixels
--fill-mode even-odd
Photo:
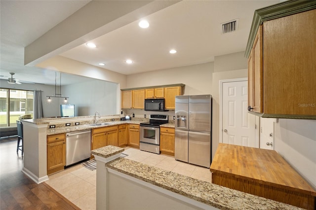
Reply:
[[[91,148],[97,149],[106,145],[118,146],[118,126],[92,129]]]

